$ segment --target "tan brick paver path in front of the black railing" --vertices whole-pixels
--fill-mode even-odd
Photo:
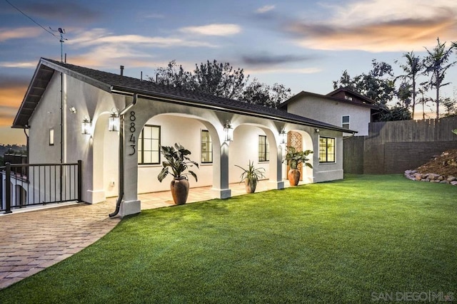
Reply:
[[[76,204],[0,216],[0,289],[68,258],[119,223],[116,203]]]

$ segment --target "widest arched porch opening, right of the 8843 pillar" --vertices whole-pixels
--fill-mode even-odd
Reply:
[[[160,146],[183,145],[191,152],[189,158],[199,164],[190,168],[197,181],[189,176],[194,187],[210,187],[214,184],[214,167],[220,162],[219,136],[210,122],[194,115],[164,113],[149,118],[137,138],[138,194],[168,191],[173,177],[169,174],[163,182],[157,176],[164,161]]]

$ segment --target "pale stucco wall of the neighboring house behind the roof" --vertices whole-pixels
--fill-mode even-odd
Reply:
[[[349,129],[357,131],[356,136],[368,135],[371,110],[358,105],[306,96],[287,105],[287,111],[341,127],[341,117],[349,115]]]

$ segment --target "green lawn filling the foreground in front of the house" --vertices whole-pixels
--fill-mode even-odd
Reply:
[[[456,194],[351,176],[143,211],[0,303],[457,300]]]

